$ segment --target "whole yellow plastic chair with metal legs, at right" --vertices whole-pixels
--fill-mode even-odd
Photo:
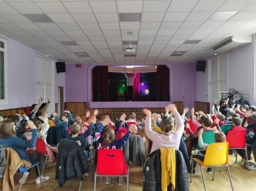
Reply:
[[[230,176],[230,170],[228,168],[228,143],[227,142],[209,144],[208,148],[206,150],[205,156],[204,156],[204,161],[201,161],[197,158],[192,158],[192,166],[193,166],[194,162],[197,162],[201,167],[201,174],[202,174],[203,182],[204,182],[203,168],[209,168],[209,167],[214,168],[213,177],[212,177],[212,180],[214,180],[216,167],[225,166],[228,171],[229,178],[230,178],[232,191],[234,190],[231,176]],[[192,174],[193,173],[191,173],[190,182],[192,182]],[[207,191],[205,182],[204,182],[204,190]]]

